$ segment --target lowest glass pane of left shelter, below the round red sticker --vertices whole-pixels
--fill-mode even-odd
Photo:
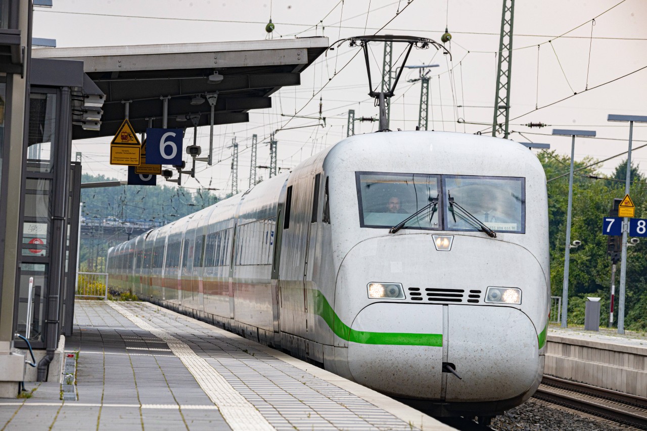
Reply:
[[[33,278],[31,301],[29,301],[30,278]],[[30,341],[42,341],[45,316],[45,286],[47,265],[23,263],[20,265],[20,293],[18,300],[17,331]]]

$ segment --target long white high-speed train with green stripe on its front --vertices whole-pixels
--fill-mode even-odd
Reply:
[[[510,140],[357,135],[111,248],[108,272],[434,414],[487,418],[542,378],[545,175]]]

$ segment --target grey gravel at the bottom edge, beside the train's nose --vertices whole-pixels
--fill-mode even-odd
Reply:
[[[609,425],[559,410],[548,403],[529,399],[520,406],[492,419],[493,429],[499,431],[615,431],[635,429],[622,425]]]

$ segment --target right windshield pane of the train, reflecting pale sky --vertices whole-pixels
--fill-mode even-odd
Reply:
[[[525,184],[523,178],[445,177],[445,218],[448,230],[480,230],[464,210],[450,211],[448,197],[498,232],[525,232]]]

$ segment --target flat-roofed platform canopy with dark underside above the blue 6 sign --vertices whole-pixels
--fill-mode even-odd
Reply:
[[[149,118],[153,127],[162,127],[166,97],[170,128],[192,127],[187,118],[195,114],[200,115],[198,126],[210,124],[206,96],[214,93],[214,124],[247,122],[250,109],[272,106],[270,94],[299,85],[300,73],[327,47],[327,38],[298,38],[34,49],[32,56],[82,60],[83,71],[105,94],[100,129],[72,129],[73,139],[84,139],[115,135],[128,100],[129,120],[137,133],[148,127]],[[196,104],[200,98],[204,102]]]

